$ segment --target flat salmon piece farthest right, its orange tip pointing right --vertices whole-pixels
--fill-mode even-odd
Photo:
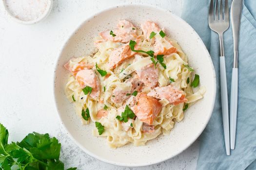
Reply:
[[[156,87],[151,90],[147,96],[152,96],[157,99],[167,99],[170,104],[177,105],[182,102],[187,102],[188,100],[185,98],[185,93],[182,90],[177,89],[173,85],[168,85],[164,87]]]

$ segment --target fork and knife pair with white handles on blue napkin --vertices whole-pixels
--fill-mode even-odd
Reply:
[[[224,0],[223,0],[224,1]],[[231,97],[230,97],[230,129],[228,112],[228,93],[226,67],[223,47],[223,33],[229,28],[229,5],[228,0],[211,0],[209,9],[209,27],[219,36],[220,45],[220,92],[224,139],[227,155],[230,148],[235,149],[236,140],[236,115],[237,115],[237,91],[238,91],[238,40],[240,18],[243,0],[233,0],[231,4],[231,23],[234,40],[234,66],[232,69]]]

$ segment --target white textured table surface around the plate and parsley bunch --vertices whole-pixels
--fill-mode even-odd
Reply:
[[[13,21],[0,4],[0,123],[10,140],[33,131],[56,136],[61,160],[79,170],[194,170],[198,141],[165,162],[140,168],[110,165],[84,153],[64,130],[54,103],[53,74],[59,50],[84,19],[120,3],[149,3],[181,14],[182,0],[54,0],[51,14],[34,25]]]

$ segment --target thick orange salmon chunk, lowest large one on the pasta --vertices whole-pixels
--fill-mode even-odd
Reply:
[[[137,104],[131,109],[140,121],[152,125],[154,119],[156,119],[161,111],[161,103],[150,96],[143,96],[137,99]]]

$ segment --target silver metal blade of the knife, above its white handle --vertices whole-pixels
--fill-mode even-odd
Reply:
[[[234,68],[238,67],[238,41],[239,41],[239,30],[240,30],[240,20],[242,12],[243,0],[233,0],[231,3],[230,17],[233,32],[234,41]]]

